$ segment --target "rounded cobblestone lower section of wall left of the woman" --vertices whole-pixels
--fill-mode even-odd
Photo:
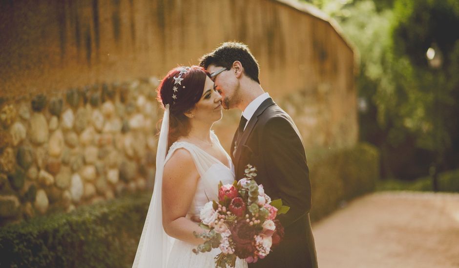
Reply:
[[[4,105],[0,222],[151,189],[161,108],[158,79],[150,81],[96,84]]]

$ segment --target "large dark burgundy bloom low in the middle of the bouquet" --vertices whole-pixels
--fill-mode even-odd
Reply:
[[[256,234],[255,228],[244,221],[238,221],[231,228],[231,237],[234,242],[234,253],[241,259],[253,256],[255,247],[253,246],[253,236]]]

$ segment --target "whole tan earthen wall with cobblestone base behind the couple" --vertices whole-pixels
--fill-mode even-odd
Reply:
[[[307,151],[356,144],[354,51],[306,4],[1,1],[0,20],[1,222],[151,185],[158,79],[228,40],[249,45]],[[214,125],[226,149],[239,116]]]

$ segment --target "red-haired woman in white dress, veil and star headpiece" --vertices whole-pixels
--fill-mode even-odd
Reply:
[[[222,97],[205,69],[172,69],[158,87],[165,107],[156,154],[156,178],[133,268],[213,268],[220,252],[195,254],[204,242],[191,220],[209,200],[218,200],[218,183],[234,181],[230,156],[210,130],[222,118]],[[237,259],[236,268],[246,268]]]

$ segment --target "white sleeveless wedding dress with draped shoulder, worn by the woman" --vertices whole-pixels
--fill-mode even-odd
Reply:
[[[211,132],[211,138],[214,146],[218,146],[219,149],[225,152],[228,159],[227,163],[220,162],[198,146],[185,141],[178,141],[172,144],[166,156],[165,163],[170,159],[175,150],[179,148],[186,149],[191,154],[196,169],[201,176],[187,217],[193,215],[199,216],[199,211],[201,211],[207,202],[218,200],[218,184],[220,181],[223,184],[231,184],[234,181],[234,166],[230,156],[220,145],[217,136],[213,132]],[[212,249],[210,252],[195,254],[192,251],[195,248],[195,245],[175,239],[169,253],[167,268],[214,268],[214,258],[221,252],[220,249]],[[236,268],[247,267],[248,265],[245,260],[239,258],[236,260]]]

